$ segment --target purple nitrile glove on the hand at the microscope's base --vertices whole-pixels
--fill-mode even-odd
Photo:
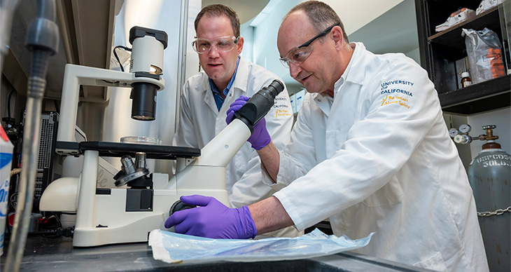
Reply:
[[[257,230],[247,206],[228,208],[209,196],[181,196],[188,205],[199,206],[174,212],[165,228],[176,226],[176,233],[223,239],[254,238]]]

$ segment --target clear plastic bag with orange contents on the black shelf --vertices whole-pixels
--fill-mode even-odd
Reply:
[[[499,76],[505,76],[502,46],[495,32],[486,27],[480,31],[464,29],[470,78],[480,83]]]

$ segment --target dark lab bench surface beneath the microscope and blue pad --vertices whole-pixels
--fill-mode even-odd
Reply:
[[[8,247],[8,243],[6,243]],[[8,248],[0,258],[1,269]],[[147,243],[73,247],[71,238],[29,236],[20,271],[429,271],[361,254],[344,252],[291,261],[167,264],[153,259]]]

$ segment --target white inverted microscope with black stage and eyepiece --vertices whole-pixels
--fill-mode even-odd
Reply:
[[[163,226],[180,196],[201,194],[230,205],[225,190],[225,166],[241,149],[283,90],[273,81],[253,95],[235,119],[202,149],[118,142],[76,142],[74,129],[80,85],[130,87],[132,118],[155,119],[156,95],[165,88],[161,78],[167,34],[155,29],[130,30],[130,72],[66,64],[56,152],[84,156],[80,177],[51,182],[41,196],[40,210],[76,214],[73,246],[93,247],[146,242],[148,233]],[[97,188],[99,156],[120,157],[116,188]],[[132,158],[135,161],[132,161]],[[176,174],[149,173],[146,159],[176,160]],[[121,188],[122,187],[122,188]]]

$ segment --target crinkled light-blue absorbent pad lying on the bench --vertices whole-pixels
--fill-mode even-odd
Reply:
[[[167,263],[202,261],[280,261],[335,254],[364,247],[367,237],[351,240],[315,229],[301,237],[260,240],[211,239],[155,229],[149,234],[153,258]]]

